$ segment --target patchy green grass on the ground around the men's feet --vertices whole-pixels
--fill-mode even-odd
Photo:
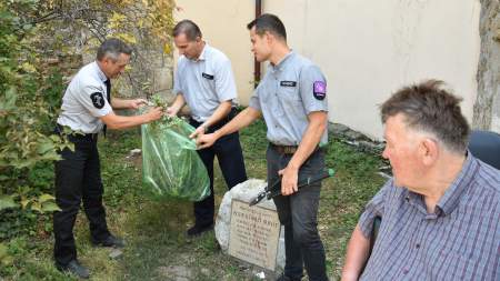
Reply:
[[[266,126],[259,121],[241,132],[249,178],[266,178]],[[87,219],[80,212],[74,228],[79,259],[90,268],[92,280],[254,280],[256,269],[221,253],[213,232],[187,239],[193,222],[189,202],[158,201],[143,195],[140,161],[126,159],[140,148],[138,130],[110,132],[100,140],[104,202],[110,230],[126,239],[128,247],[118,260],[110,250],[96,249],[89,241]],[[327,265],[338,280],[346,243],[366,202],[383,179],[377,174],[382,163],[376,155],[359,152],[330,136],[327,167],[336,177],[323,181],[319,229],[327,249]],[[219,169],[214,174],[216,202],[226,191]],[[13,265],[0,270],[0,280],[73,280],[52,265],[53,238],[19,237],[9,241]],[[188,270],[187,270],[188,269]]]

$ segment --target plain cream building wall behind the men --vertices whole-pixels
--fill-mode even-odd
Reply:
[[[240,100],[251,94],[252,56],[246,23],[254,1],[178,0],[178,18],[199,22],[230,57]],[[398,88],[429,78],[463,97],[469,121],[479,60],[479,0],[262,0],[281,18],[289,46],[328,79],[329,119],[382,138],[378,104]]]

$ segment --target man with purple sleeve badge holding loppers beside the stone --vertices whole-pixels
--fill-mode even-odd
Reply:
[[[311,281],[328,280],[324,249],[317,229],[321,183],[298,191],[298,180],[324,169],[328,103],[327,83],[320,69],[292,52],[283,23],[273,14],[262,14],[248,24],[252,52],[258,61],[270,61],[250,106],[231,122],[197,142],[211,145],[224,134],[260,118],[268,128],[268,182],[281,177],[282,195],[274,199],[284,225],[286,265],[279,280],[301,280],[302,264]]]

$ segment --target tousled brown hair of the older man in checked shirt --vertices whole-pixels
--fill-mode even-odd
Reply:
[[[400,89],[380,107],[382,122],[402,113],[409,128],[434,134],[450,151],[464,152],[470,129],[460,110],[462,99],[443,84],[427,80]]]

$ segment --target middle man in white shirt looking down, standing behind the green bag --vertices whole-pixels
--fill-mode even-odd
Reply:
[[[228,57],[201,38],[199,27],[182,20],[173,28],[173,42],[179,50],[173,93],[177,94],[168,114],[176,116],[187,103],[191,110],[190,124],[196,138],[213,132],[236,116],[237,89]],[[198,150],[210,178],[210,197],[194,202],[196,222],[187,231],[198,235],[213,228],[213,159],[217,155],[229,189],[247,180],[243,153],[237,131],[218,140],[211,148]]]

